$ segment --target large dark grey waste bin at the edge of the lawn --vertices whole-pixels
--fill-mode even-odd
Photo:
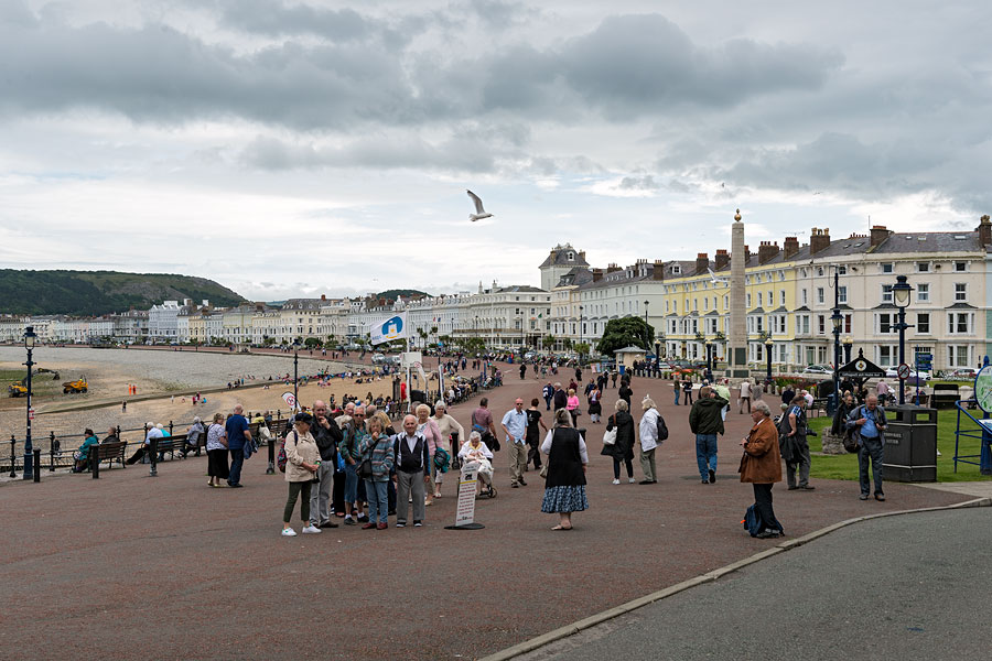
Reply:
[[[914,404],[885,409],[885,460],[889,481],[937,481],[937,410]]]

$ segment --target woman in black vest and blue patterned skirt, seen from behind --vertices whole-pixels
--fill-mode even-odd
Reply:
[[[541,511],[558,514],[558,525],[551,530],[572,530],[572,512],[589,509],[585,497],[589,453],[582,434],[571,426],[571,415],[567,410],[554,412],[554,429],[548,432],[541,452],[548,455]]]

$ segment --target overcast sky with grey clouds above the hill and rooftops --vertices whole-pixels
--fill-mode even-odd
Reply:
[[[992,213],[988,2],[0,0],[0,266],[255,300]],[[468,223],[477,193],[494,218]]]

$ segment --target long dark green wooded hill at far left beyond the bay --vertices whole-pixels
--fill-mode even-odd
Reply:
[[[0,269],[0,313],[78,316],[148,310],[162,301],[204,299],[229,306],[244,296],[206,278],[118,271],[18,271]]]

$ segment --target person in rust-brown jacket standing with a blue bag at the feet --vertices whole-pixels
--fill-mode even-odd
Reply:
[[[747,437],[741,441],[744,456],[741,457],[741,481],[754,487],[755,513],[763,528],[755,535],[761,539],[781,534],[781,525],[772,509],[772,485],[781,481],[781,455],[778,452],[778,430],[772,421],[772,410],[764,401],[757,400],[751,408],[751,427]]]

